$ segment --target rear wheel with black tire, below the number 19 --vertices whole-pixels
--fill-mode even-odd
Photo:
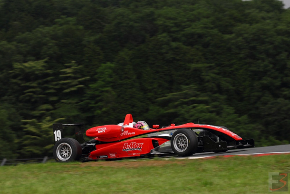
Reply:
[[[53,157],[57,162],[78,161],[81,157],[81,145],[73,138],[62,138],[53,147]]]

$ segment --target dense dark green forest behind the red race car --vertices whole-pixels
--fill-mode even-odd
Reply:
[[[52,124],[223,125],[290,142],[290,10],[277,0],[1,0],[0,159]]]

